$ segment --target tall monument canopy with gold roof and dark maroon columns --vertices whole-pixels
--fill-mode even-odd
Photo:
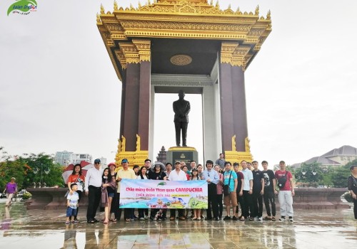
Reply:
[[[205,160],[223,152],[251,161],[244,72],[271,32],[270,13],[221,10],[207,0],[126,9],[114,2],[113,12],[101,6],[97,26],[122,82],[117,164],[154,159],[155,92],[178,90],[203,97]]]

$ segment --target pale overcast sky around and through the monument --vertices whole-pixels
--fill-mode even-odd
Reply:
[[[121,82],[96,27],[100,4],[113,11],[113,2],[38,0],[36,12],[7,16],[14,0],[0,1],[0,147],[9,154],[67,150],[114,160]],[[138,1],[118,1],[130,3]],[[254,159],[293,164],[357,147],[357,1],[219,4],[248,12],[259,5],[263,16],[271,10],[273,31],[246,70]],[[156,95],[156,107],[176,99]],[[202,163],[201,96],[186,99],[188,145]],[[155,114],[156,154],[175,142],[171,105]]]

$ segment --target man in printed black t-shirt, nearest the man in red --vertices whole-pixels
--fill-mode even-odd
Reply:
[[[268,169],[268,161],[262,161],[261,166],[263,166],[263,176],[264,176],[264,204],[266,206],[267,216],[264,220],[275,221],[276,216],[276,205],[275,205],[275,194],[276,194],[276,179],[275,174],[271,169]],[[271,210],[270,205],[271,203]],[[271,216],[273,215],[273,216]]]

